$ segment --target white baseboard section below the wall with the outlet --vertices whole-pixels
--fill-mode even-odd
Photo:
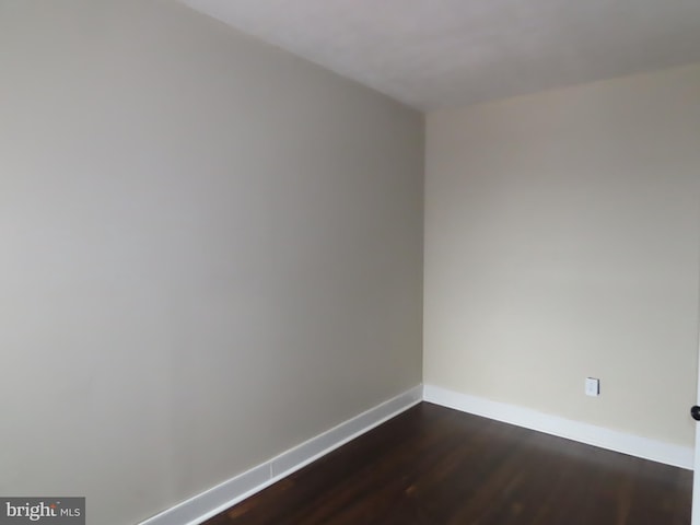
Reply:
[[[423,386],[423,400],[630,456],[689,470],[693,468],[695,450],[691,446],[650,440],[432,385]]]

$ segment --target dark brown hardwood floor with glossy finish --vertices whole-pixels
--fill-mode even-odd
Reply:
[[[422,402],[207,525],[687,525],[692,472]]]

